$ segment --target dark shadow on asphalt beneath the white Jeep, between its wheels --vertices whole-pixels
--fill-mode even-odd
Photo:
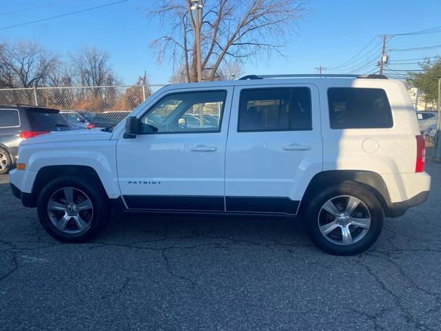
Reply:
[[[311,247],[300,218],[117,214],[96,241],[222,241]]]

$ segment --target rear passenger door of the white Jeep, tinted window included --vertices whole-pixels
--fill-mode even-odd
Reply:
[[[227,211],[296,214],[321,169],[316,86],[234,88],[225,162]]]

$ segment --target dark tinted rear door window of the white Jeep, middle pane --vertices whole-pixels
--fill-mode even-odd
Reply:
[[[280,130],[311,130],[309,88],[242,90],[238,131]]]

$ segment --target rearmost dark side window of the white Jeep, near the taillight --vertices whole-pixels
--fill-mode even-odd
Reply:
[[[380,88],[329,88],[332,129],[391,128],[391,106]]]

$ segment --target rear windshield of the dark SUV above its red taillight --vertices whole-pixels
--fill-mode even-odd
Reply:
[[[28,119],[34,131],[66,131],[71,130],[68,121],[59,112],[28,110]]]

